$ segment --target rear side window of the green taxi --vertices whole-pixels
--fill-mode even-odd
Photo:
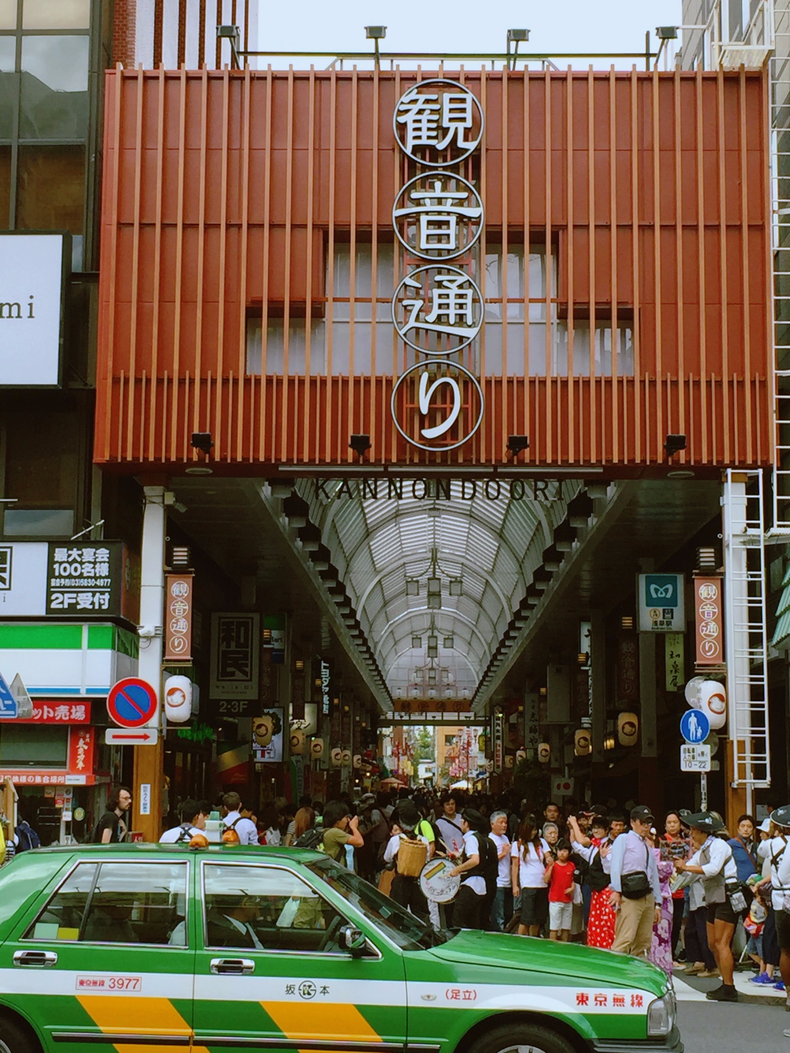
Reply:
[[[81,865],[26,937],[185,947],[186,873],[185,862]]]

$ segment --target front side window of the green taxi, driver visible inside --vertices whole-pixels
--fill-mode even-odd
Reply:
[[[337,954],[347,919],[281,867],[203,865],[206,947]]]

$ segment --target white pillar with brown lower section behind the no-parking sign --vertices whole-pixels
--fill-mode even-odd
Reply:
[[[164,715],[162,693],[162,624],[164,612],[164,538],[166,514],[164,486],[145,486],[140,568],[140,658],[138,676],[156,691],[159,708],[147,727],[159,728],[156,746],[136,746],[134,762],[133,830],[142,831],[144,840],[158,841],[162,819],[164,776]],[[147,791],[143,791],[147,787]],[[143,795],[146,813],[141,812]]]

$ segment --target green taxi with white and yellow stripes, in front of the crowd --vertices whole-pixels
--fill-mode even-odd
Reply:
[[[25,852],[0,870],[0,1053],[682,1053],[671,981],[436,933],[322,853]]]

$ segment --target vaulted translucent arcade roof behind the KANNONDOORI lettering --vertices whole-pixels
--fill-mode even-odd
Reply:
[[[378,489],[387,493],[386,480]],[[477,480],[473,494],[471,480],[453,480],[448,492],[407,479],[401,497],[374,498],[355,479],[297,483],[390,691],[416,695],[428,682],[420,671],[435,669],[437,698],[474,694],[578,490],[575,480],[551,481],[536,499],[529,480]],[[440,581],[433,597],[429,578],[433,589]]]

